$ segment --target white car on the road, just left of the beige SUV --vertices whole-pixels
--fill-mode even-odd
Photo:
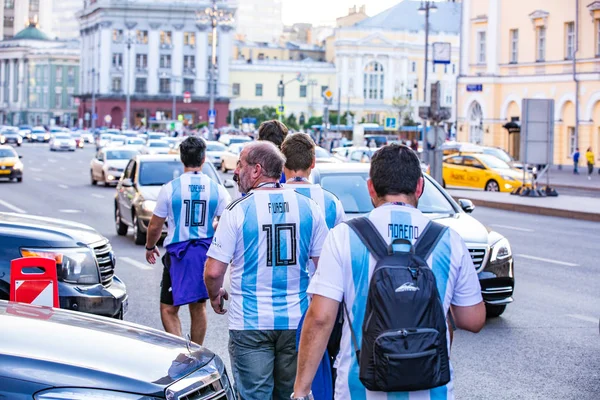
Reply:
[[[105,147],[100,149],[90,163],[92,185],[103,182],[104,186],[116,185],[129,160],[139,154],[135,147]]]

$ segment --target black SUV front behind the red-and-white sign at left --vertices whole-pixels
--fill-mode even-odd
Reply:
[[[89,226],[0,213],[0,300],[10,298],[10,262],[21,257],[57,260],[60,308],[120,319],[127,312],[112,247]]]

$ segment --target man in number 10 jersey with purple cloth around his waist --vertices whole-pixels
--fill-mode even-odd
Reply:
[[[202,139],[188,137],[179,150],[184,173],[160,190],[148,226],[146,260],[154,264],[160,257],[156,243],[166,221],[161,320],[165,331],[182,336],[179,306],[189,304],[192,341],[202,344],[208,299],[204,284],[206,251],[215,231],[213,221],[221,216],[231,198],[224,187],[202,173],[206,154],[206,143]]]

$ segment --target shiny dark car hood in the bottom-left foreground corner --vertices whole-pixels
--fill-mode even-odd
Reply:
[[[0,301],[0,398],[233,399],[221,359],[151,328]]]

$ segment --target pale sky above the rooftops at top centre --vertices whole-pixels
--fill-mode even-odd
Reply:
[[[281,0],[283,7],[283,23],[292,25],[297,22],[308,22],[313,26],[335,26],[335,19],[348,15],[353,5],[359,8],[367,5],[367,15],[372,17],[398,3],[401,0]],[[411,0],[404,0],[411,1]]]

